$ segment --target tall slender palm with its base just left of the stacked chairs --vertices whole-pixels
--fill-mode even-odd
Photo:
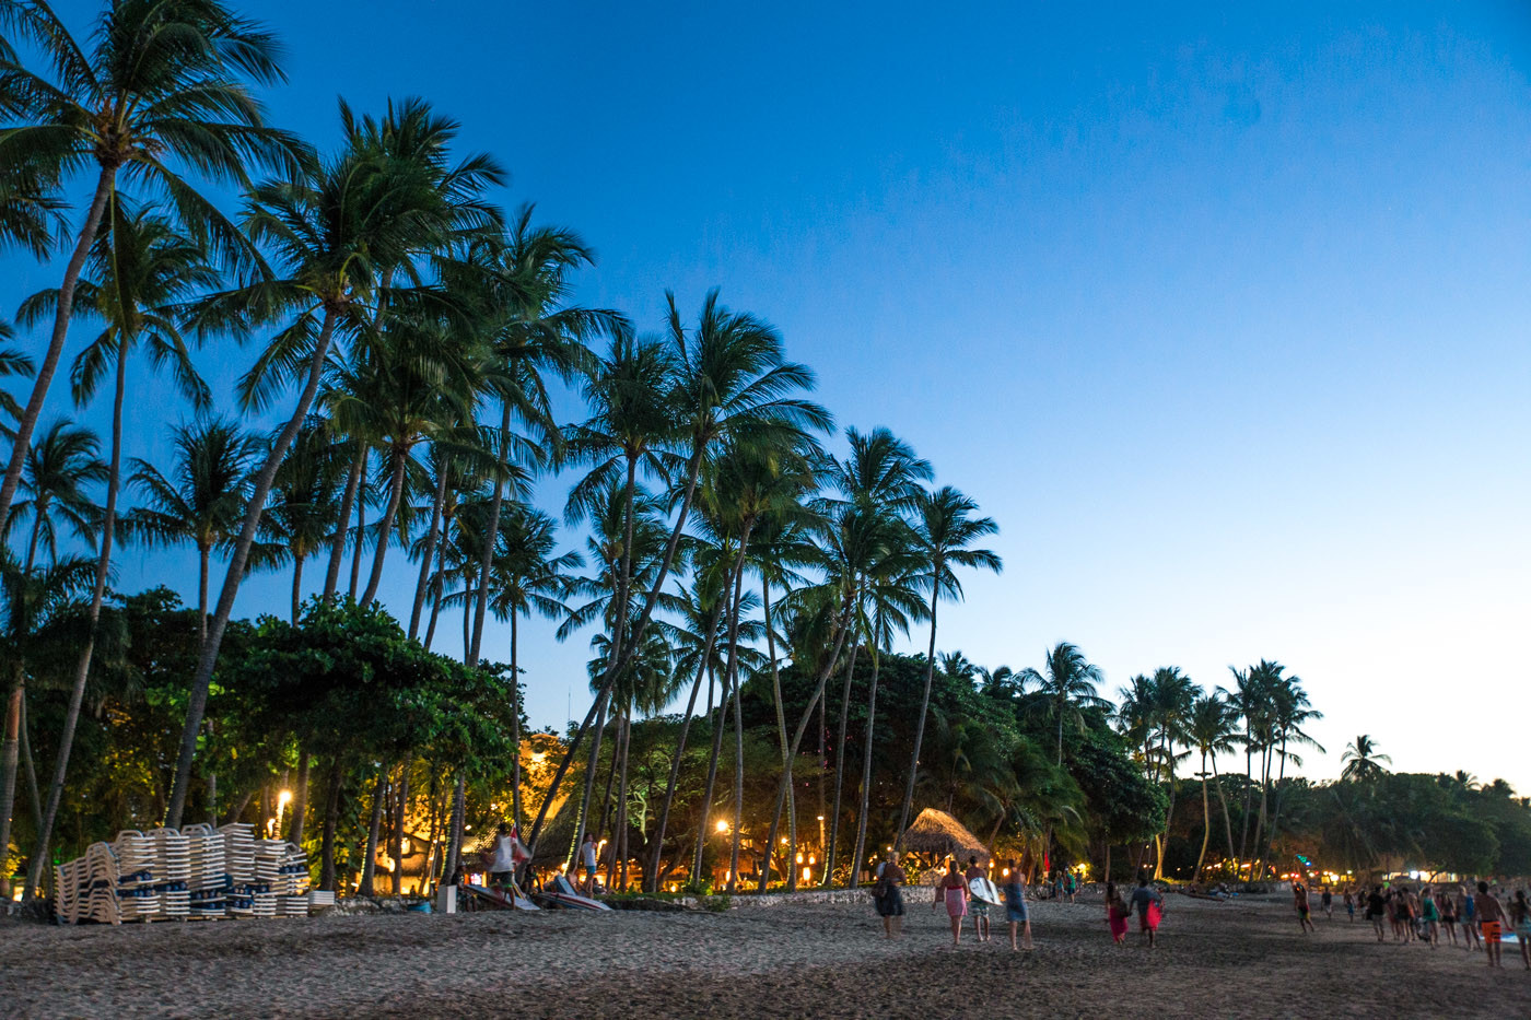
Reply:
[[[178,308],[193,294],[213,286],[219,276],[208,263],[204,247],[181,236],[153,208],[135,210],[113,193],[107,201],[107,228],[92,245],[89,279],[81,279],[75,294],[81,314],[103,323],[103,331],[80,354],[73,365],[73,395],[84,403],[95,395],[107,365],[113,365],[112,387],[112,452],[107,464],[106,507],[101,516],[101,544],[96,554],[95,587],[90,594],[90,637],[80,654],[69,709],[58,741],[54,776],[34,861],[47,858],[54,818],[63,798],[69,757],[73,749],[75,726],[95,655],[95,628],[101,619],[101,600],[112,570],[116,533],[116,502],[122,478],[122,404],[127,400],[127,360],[144,348],[155,368],[168,369],[176,389],[193,407],[202,410],[211,397],[207,384],[191,365],[191,352],[181,335]],[[58,291],[43,291],[23,306],[23,319],[37,322],[55,311]],[[28,878],[29,888],[41,878],[40,864]]]

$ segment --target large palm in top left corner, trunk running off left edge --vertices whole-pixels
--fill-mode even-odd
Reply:
[[[49,74],[0,49],[0,107],[23,123],[0,130],[0,164],[52,193],[93,167],[95,193],[58,288],[47,351],[0,484],[0,533],[21,481],[32,430],[63,355],[77,282],[107,202],[126,173],[164,193],[196,240],[222,256],[248,257],[248,244],[168,162],[220,184],[245,181],[248,165],[294,168],[303,145],[266,127],[250,84],[282,80],[277,44],[259,25],[219,0],[116,0],[101,15],[92,46],[81,46],[43,0],[0,2],[0,29],[41,51]]]

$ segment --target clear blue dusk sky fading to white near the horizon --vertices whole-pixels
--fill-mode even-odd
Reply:
[[[1020,668],[1072,640],[1112,694],[1278,659],[1326,712],[1306,772],[1367,732],[1531,792],[1523,8],[726,6],[250,9],[289,47],[276,123],[323,145],[340,95],[430,98],[507,204],[597,248],[582,300],[654,328],[664,288],[721,286],[842,424],[975,496],[1006,570],[940,648]],[[202,363],[227,392],[250,357]],[[136,392],[147,436],[165,387]],[[194,594],[190,556],[122,567]],[[585,657],[524,631],[534,723],[580,712]]]

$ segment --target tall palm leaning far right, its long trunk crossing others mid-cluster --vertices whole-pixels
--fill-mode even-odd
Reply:
[[[643,599],[635,622],[625,629],[634,642],[643,637],[654,608],[664,593],[664,580],[675,564],[697,496],[703,461],[729,438],[782,443],[810,430],[827,430],[833,424],[827,410],[798,395],[813,389],[813,372],[807,366],[787,361],[781,334],[773,326],[749,312],[729,311],[718,302],[718,293],[710,291],[703,302],[697,326],[687,329],[675,306],[675,296],[666,294],[666,302],[668,342],[675,360],[671,400],[677,441],[686,452],[686,469],[683,478],[677,479],[678,510],[654,584]],[[622,665],[622,654],[614,655],[608,665],[611,675],[605,677],[602,689],[609,688]],[[559,784],[574,761],[585,734],[596,724],[597,717],[603,715],[603,703],[605,697],[597,695],[553,773],[550,793],[531,827],[528,848],[533,853]]]

